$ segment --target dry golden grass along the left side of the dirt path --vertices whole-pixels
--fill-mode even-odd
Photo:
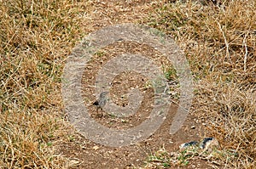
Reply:
[[[0,168],[65,168],[65,58],[81,38],[75,1],[0,1]]]

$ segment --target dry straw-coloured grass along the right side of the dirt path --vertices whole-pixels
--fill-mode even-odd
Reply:
[[[207,121],[207,136],[232,149],[232,167],[256,159],[256,3],[166,3],[147,20],[183,48],[195,78],[194,113]]]

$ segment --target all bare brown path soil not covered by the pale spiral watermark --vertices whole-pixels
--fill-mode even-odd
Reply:
[[[116,23],[136,22],[148,15],[160,3],[152,1],[96,1],[93,4],[94,13],[91,15],[90,23],[84,23],[86,28],[91,31],[100,29],[102,26],[113,25]],[[127,99],[124,97],[128,89],[137,87],[143,92],[143,103],[135,115],[126,118],[116,118],[103,112],[103,116],[98,115],[96,107],[92,103],[96,100],[95,76],[109,59],[122,53],[134,53],[147,55],[154,59],[157,65],[170,65],[160,54],[154,52],[152,48],[134,43],[114,44],[104,48],[102,54],[96,54],[88,67],[84,70],[83,95],[84,103],[89,109],[90,115],[99,123],[106,127],[126,129],[140,124],[149,115],[154,104],[154,91],[152,87],[145,87],[148,82],[147,77],[141,76],[136,72],[124,72],[117,76],[113,81],[110,91],[111,99],[120,106],[127,105]],[[89,78],[90,77],[90,78]],[[177,89],[178,92],[178,89]],[[72,168],[135,168],[143,166],[148,159],[148,155],[154,155],[154,152],[164,148],[168,152],[177,151],[180,144],[200,140],[203,135],[203,126],[201,119],[197,115],[189,114],[183,127],[174,135],[169,134],[172,124],[172,117],[177,111],[177,100],[173,98],[171,109],[168,112],[166,121],[145,141],[120,148],[106,147],[101,144],[95,144],[83,136],[77,134],[72,141],[61,145],[61,153],[75,162]],[[170,168],[212,168],[207,161],[195,160],[188,166],[171,166]],[[218,166],[218,168],[221,168]]]

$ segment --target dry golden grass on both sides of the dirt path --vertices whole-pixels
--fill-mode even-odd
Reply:
[[[91,5],[0,0],[0,168],[70,166],[55,153],[73,134],[62,113],[61,73],[67,54],[88,33],[84,28],[93,29]],[[253,0],[222,7],[177,2],[142,21],[184,49],[195,77],[195,113],[206,116],[207,136],[235,149],[238,156],[227,162],[237,168],[256,165],[254,11]]]

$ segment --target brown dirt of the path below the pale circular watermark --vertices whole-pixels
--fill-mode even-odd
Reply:
[[[79,159],[81,164],[73,168],[129,168],[143,166],[148,155],[164,147],[166,151],[177,151],[178,146],[189,140],[200,139],[200,126],[196,124],[197,118],[189,115],[184,126],[176,134],[170,135],[169,128],[172,116],[177,110],[176,105],[171,106],[166,121],[147,140],[121,148],[111,148],[95,144],[84,137],[76,138],[74,142],[62,145],[62,153],[71,159]],[[102,118],[102,121],[108,118]],[[195,129],[191,129],[196,126]],[[195,161],[193,162],[195,163]],[[197,168],[206,168],[205,165]]]

